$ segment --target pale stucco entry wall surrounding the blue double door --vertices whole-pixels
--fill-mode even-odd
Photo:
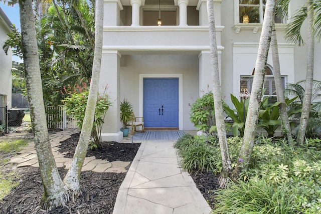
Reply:
[[[120,66],[120,97],[127,98],[134,106],[135,115],[142,116],[142,89],[139,75],[155,78],[182,76],[182,103],[179,107],[184,130],[194,130],[190,122],[190,105],[199,97],[199,59],[197,55],[127,55]],[[157,76],[158,74],[158,76]],[[162,75],[159,75],[162,74]],[[166,75],[168,74],[168,76]]]

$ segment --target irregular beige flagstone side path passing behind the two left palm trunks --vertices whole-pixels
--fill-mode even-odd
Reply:
[[[59,145],[60,142],[67,140],[74,133],[78,133],[78,130],[65,130],[59,131],[49,135],[52,153],[54,155],[57,167],[70,168],[72,158],[66,158],[64,155],[67,152],[60,153]],[[35,150],[35,143],[31,142],[28,146],[24,147],[23,150],[18,152],[19,155],[14,156],[10,159],[9,163],[18,163],[17,167],[32,166],[39,167],[38,157]],[[94,171],[94,172],[127,172],[127,167],[130,162],[125,161],[112,161],[96,159],[96,157],[86,157],[81,171]]]

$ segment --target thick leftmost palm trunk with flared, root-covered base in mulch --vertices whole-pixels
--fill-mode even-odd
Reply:
[[[53,208],[63,205],[65,201],[69,200],[69,197],[67,187],[59,176],[50,146],[32,5],[32,0],[19,1],[22,52],[35,149],[44,186],[41,207]]]

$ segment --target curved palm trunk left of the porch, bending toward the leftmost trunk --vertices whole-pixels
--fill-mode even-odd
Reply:
[[[91,83],[89,88],[88,101],[86,106],[86,113],[79,137],[79,141],[75,150],[75,154],[67,172],[64,183],[73,191],[80,191],[80,172],[84,163],[92,126],[95,116],[95,108],[98,96],[99,76],[101,70],[101,56],[102,56],[102,33],[103,33],[103,1],[96,0],[96,31],[95,31],[95,52],[94,62],[92,66]]]

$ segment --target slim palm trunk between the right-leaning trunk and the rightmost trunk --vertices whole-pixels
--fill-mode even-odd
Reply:
[[[282,88],[280,61],[279,61],[279,52],[278,52],[278,48],[277,48],[275,23],[273,23],[273,27],[272,27],[271,50],[272,50],[272,61],[273,61],[276,97],[277,97],[278,102],[282,102],[279,105],[280,118],[282,121],[282,130],[284,130],[288,141],[292,142],[293,139],[292,139],[292,134],[291,134],[291,127],[290,127],[289,118],[287,116],[284,92],[283,92],[283,88]]]

